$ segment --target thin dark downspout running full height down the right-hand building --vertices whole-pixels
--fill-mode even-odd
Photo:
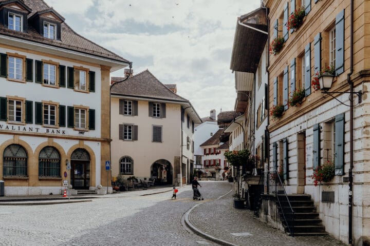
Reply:
[[[353,94],[354,94],[354,84],[353,81],[350,79],[350,76],[353,74],[353,23],[354,23],[354,1],[351,0],[350,2],[350,67],[349,73],[347,74],[347,82],[349,84],[349,139],[353,139],[353,132],[354,132],[354,103],[353,103]],[[352,218],[352,211],[353,211],[353,141],[349,141],[349,170],[348,170],[348,243],[349,245],[354,245],[353,243],[353,218]]]

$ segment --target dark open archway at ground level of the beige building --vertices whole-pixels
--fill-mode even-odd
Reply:
[[[157,180],[157,185],[173,185],[173,170],[170,161],[156,160],[151,166],[151,178]]]

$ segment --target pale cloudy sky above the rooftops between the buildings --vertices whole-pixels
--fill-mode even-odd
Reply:
[[[76,32],[149,69],[200,117],[233,110],[230,57],[236,18],[260,0],[44,0]],[[123,70],[112,74],[122,76]]]

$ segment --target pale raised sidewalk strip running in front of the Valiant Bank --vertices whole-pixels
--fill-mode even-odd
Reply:
[[[156,187],[147,190],[125,191],[106,195],[74,195],[63,197],[63,195],[42,195],[42,196],[2,196],[0,197],[0,206],[16,205],[50,205],[59,203],[88,202],[97,198],[117,198],[117,197],[135,197],[147,196],[158,193],[172,191],[170,187]]]

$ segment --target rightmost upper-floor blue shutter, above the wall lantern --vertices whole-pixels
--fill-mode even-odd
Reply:
[[[344,9],[336,17],[336,74],[344,72]]]

